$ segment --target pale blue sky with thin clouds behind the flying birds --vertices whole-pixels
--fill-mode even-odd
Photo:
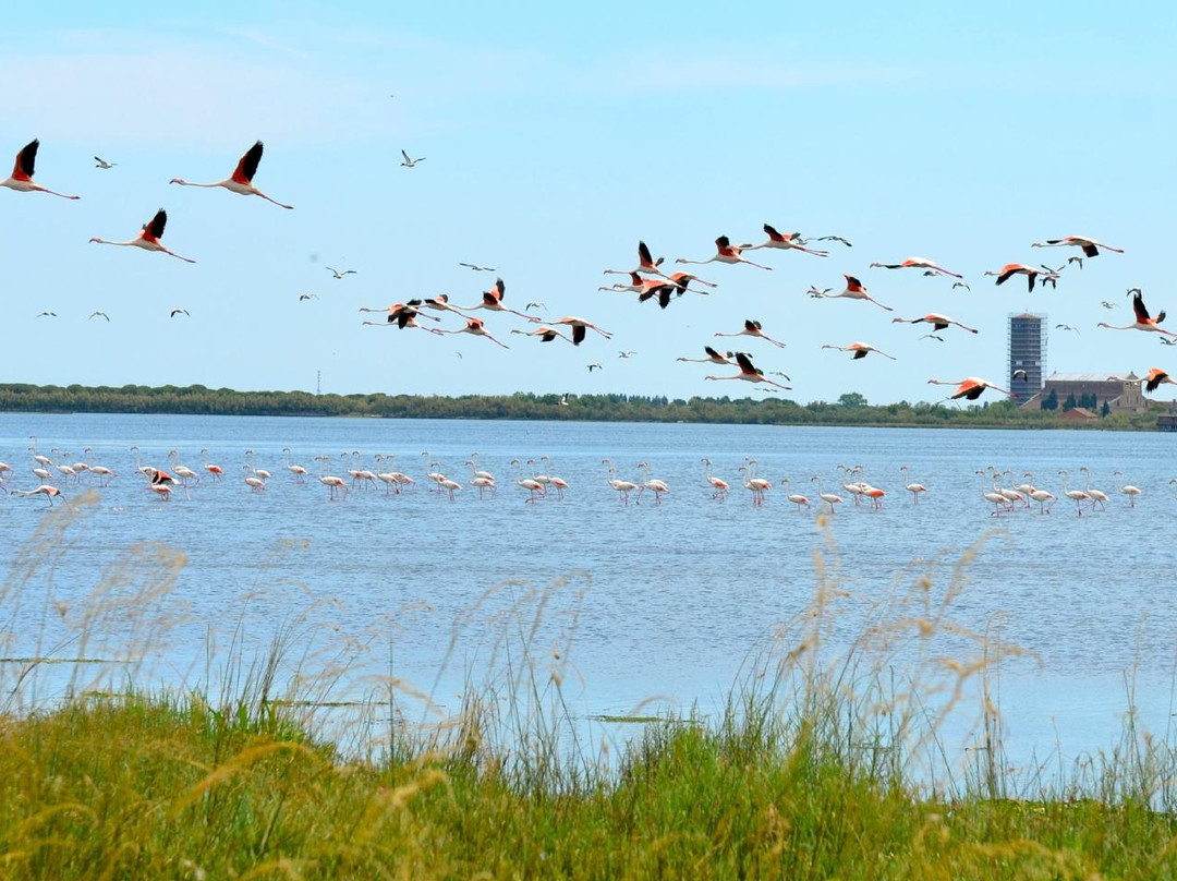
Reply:
[[[790,397],[920,400],[942,391],[932,376],[1000,383],[1006,317],[1025,309],[1080,330],[1052,327],[1050,369],[1177,370],[1157,334],[1095,326],[1131,320],[1129,286],[1177,310],[1168,6],[348,6],[68,2],[4,31],[0,155],[38,137],[36,180],[82,197],[0,190],[5,380],[313,390],[321,370],[322,390],[344,393],[743,396],[752,386],[703,379],[733,369],[674,358],[758,318],[787,347],[738,347],[789,372]],[[227,177],[257,139],[254,183],[294,211],[168,186]],[[401,148],[427,159],[403,168]],[[132,238],[160,206],[164,244],[195,265],[87,244]],[[701,259],[719,234],[762,241],[766,221],[855,246],[753,252],[771,272],[699,267],[719,287],[665,312],[597,290],[638,239]],[[1072,233],[1126,253],[1068,269],[1057,291],[982,276],[1058,265],[1073,252],[1029,244]],[[911,256],[972,290],[869,269]],[[504,351],[360,324],[360,306],[478,302],[493,277],[458,261],[497,267],[507,305],[541,300],[616,336],[540,345],[512,337],[510,316],[476,313]],[[945,312],[980,333],[919,340],[920,325],[870,304],[805,296],[842,290],[842,273],[895,314]],[[169,319],[181,306],[191,318]],[[853,340],[898,360],[820,349]]]

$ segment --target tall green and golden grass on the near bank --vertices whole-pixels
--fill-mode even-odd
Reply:
[[[1000,671],[1030,656],[999,618],[975,631],[953,617],[992,537],[913,563],[872,600],[842,583],[825,535],[812,601],[749,656],[718,714],[618,724],[637,734],[593,746],[609,726],[566,694],[585,575],[499,585],[458,617],[446,664],[476,622],[483,643],[452,713],[394,675],[394,637],[328,650],[305,612],[262,644],[242,615],[191,684],[164,689],[147,658],[185,620],[182,557],[132,550],[61,609],[47,574],[85,518],[47,516],[49,550],[4,585],[0,877],[1177,874],[1177,761],[1139,730],[1130,678],[1109,751],[1008,768]],[[34,597],[31,637],[15,622]],[[387,674],[352,683],[354,658],[381,645]]]

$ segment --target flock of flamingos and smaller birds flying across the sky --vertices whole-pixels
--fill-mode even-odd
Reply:
[[[39,141],[33,140],[28,143],[20,152],[16,153],[15,165],[13,167],[12,175],[4,181],[0,181],[0,186],[15,190],[18,192],[40,192],[51,196],[56,196],[64,199],[78,199],[78,196],[71,196],[61,192],[56,192],[48,187],[45,187],[33,180],[33,174],[36,163]],[[293,206],[285,203],[278,201],[271,198],[261,190],[257,187],[253,183],[254,177],[258,172],[258,166],[262,157],[262,143],[259,140],[253,144],[239,159],[233,173],[222,180],[215,180],[211,183],[195,183],[185,180],[184,178],[173,178],[172,184],[179,186],[197,186],[197,187],[220,187],[228,190],[232,193],[240,196],[255,196],[265,199],[274,205],[282,208],[292,208]],[[413,159],[407,152],[401,151],[404,161],[403,166],[406,168],[413,168],[419,163],[425,160],[425,157]],[[94,157],[97,167],[102,170],[114,168],[118,164],[109,163],[100,157]],[[139,234],[134,238],[126,240],[109,240],[99,237],[91,238],[92,243],[113,245],[119,247],[138,247],[145,251],[154,251],[159,253],[167,254],[178,260],[184,260],[186,263],[194,263],[195,260],[188,257],[182,257],[169,249],[167,249],[161,239],[164,237],[165,228],[167,226],[167,212],[164,208],[159,208],[147,223],[142,225]],[[763,226],[767,238],[759,244],[736,244],[727,236],[719,236],[716,238],[716,252],[710,257],[703,259],[687,259],[678,258],[676,264],[690,264],[690,265],[705,265],[711,263],[723,263],[727,265],[745,265],[753,269],[771,271],[772,266],[764,263],[757,263],[745,256],[746,252],[752,251],[796,251],[799,253],[809,254],[812,257],[825,258],[830,256],[829,251],[820,250],[817,247],[810,247],[811,243],[824,243],[832,241],[840,244],[845,247],[851,247],[851,243],[842,236],[820,236],[820,237],[803,237],[799,232],[780,232],[774,226],[770,224],[764,224]],[[1036,284],[1050,285],[1051,287],[1057,287],[1059,279],[1064,270],[1075,265],[1078,269],[1083,269],[1084,259],[1091,259],[1099,254],[1100,250],[1111,251],[1115,253],[1123,253],[1123,249],[1113,247],[1105,243],[1098,241],[1096,239],[1085,236],[1065,236],[1063,238],[1046,239],[1044,241],[1031,243],[1031,247],[1073,247],[1078,249],[1082,254],[1076,254],[1069,257],[1060,266],[1051,267],[1046,265],[1029,265],[1022,263],[1010,263],[1002,266],[999,270],[988,271],[984,274],[995,277],[996,284],[1002,285],[1009,281],[1015,276],[1022,276],[1026,279],[1028,289],[1033,291]],[[673,273],[666,273],[663,270],[663,258],[654,259],[650,249],[646,246],[645,241],[638,243],[638,261],[637,265],[630,269],[618,270],[607,269],[604,270],[605,274],[620,274],[629,277],[627,283],[616,283],[607,286],[601,286],[599,290],[603,291],[614,291],[637,294],[639,303],[645,303],[647,300],[654,300],[661,309],[666,309],[671,303],[683,297],[686,293],[694,293],[707,296],[713,289],[718,286],[714,281],[709,281],[699,278],[691,272],[677,271]],[[496,272],[497,270],[492,266],[484,266],[473,263],[460,263],[459,265],[470,269],[476,272]],[[924,257],[909,257],[905,260],[898,263],[880,263],[875,261],[870,264],[871,269],[883,269],[883,270],[915,270],[922,272],[924,276],[938,277],[953,279],[953,289],[970,290],[967,281],[964,280],[963,276],[958,272],[946,269],[945,266],[936,263],[935,260]],[[344,279],[346,276],[355,274],[355,270],[345,269],[337,270],[333,267],[326,267],[328,272],[332,273],[334,279]],[[849,299],[849,300],[860,300],[869,303],[873,306],[883,309],[885,311],[893,311],[891,306],[880,303],[879,300],[871,297],[867,292],[866,286],[863,281],[850,273],[843,273],[845,279],[845,287],[840,292],[834,292],[833,289],[818,289],[816,286],[810,287],[809,294],[818,299]],[[523,311],[512,309],[506,305],[506,293],[507,287],[501,278],[498,278],[488,290],[483,291],[480,302],[472,303],[468,305],[458,305],[451,303],[448,297],[445,294],[438,294],[430,298],[414,298],[407,299],[404,303],[393,303],[387,306],[371,307],[365,306],[360,311],[365,313],[381,313],[385,316],[383,322],[364,320],[365,326],[384,326],[398,330],[415,329],[424,330],[428,333],[435,336],[446,334],[458,334],[465,333],[474,337],[481,337],[490,343],[501,346],[504,349],[510,347],[504,339],[496,337],[491,333],[487,327],[486,320],[473,314],[474,312],[486,312],[497,313],[504,316],[513,316],[514,318],[523,319],[526,325],[523,327],[512,327],[511,334],[520,334],[524,337],[530,337],[539,343],[552,343],[557,339],[561,339],[565,343],[570,343],[574,346],[579,346],[587,338],[587,331],[593,331],[605,339],[610,339],[612,333],[598,326],[593,322],[581,318],[579,316],[564,316],[560,318],[544,318],[540,314],[536,314],[531,310],[538,310],[545,307],[540,302],[527,303]],[[1169,344],[1177,344],[1177,333],[1168,329],[1162,327],[1162,323],[1165,319],[1165,312],[1161,311],[1156,317],[1152,317],[1148,307],[1144,304],[1143,292],[1137,289],[1129,289],[1129,294],[1132,296],[1132,306],[1135,312],[1135,320],[1131,324],[1125,325],[1112,325],[1106,322],[1100,322],[1099,327],[1106,327],[1111,330],[1137,330],[1145,332],[1156,332],[1162,334],[1163,342]],[[310,299],[315,299],[317,296],[313,293],[300,294],[299,300],[305,302]],[[1108,309],[1113,309],[1115,303],[1108,300],[1103,302],[1103,305]],[[171,317],[175,318],[178,316],[187,316],[188,312],[185,309],[173,309],[171,311]],[[453,327],[443,326],[428,326],[423,324],[423,320],[428,320],[434,324],[440,324],[443,317],[454,317],[458,319],[459,324]],[[41,312],[39,316],[45,318],[53,318],[55,313],[52,311]],[[102,319],[109,322],[109,316],[101,311],[94,311],[89,316],[91,319]],[[917,316],[913,318],[896,317],[892,318],[896,323],[909,323],[913,325],[923,324],[930,326],[930,332],[923,334],[920,339],[931,338],[938,342],[945,342],[945,337],[940,336],[943,331],[950,327],[958,327],[969,333],[977,333],[976,327],[970,327],[955,318],[940,312],[929,312],[924,316]],[[849,323],[845,323],[849,324]],[[1058,329],[1077,331],[1073,325],[1058,324]],[[567,332],[565,332],[565,330]],[[756,318],[746,318],[743,322],[743,326],[734,331],[720,330],[714,333],[716,337],[749,337],[752,339],[758,339],[776,347],[784,347],[785,343],[770,336],[764,325]],[[870,355],[877,355],[879,357],[896,359],[896,356],[890,355],[879,350],[877,346],[870,343],[853,340],[853,342],[831,342],[822,345],[824,350],[833,350],[839,352],[850,353],[855,359],[862,359]],[[743,380],[756,384],[760,390],[767,392],[776,392],[778,390],[791,390],[792,386],[786,385],[776,379],[770,379],[770,376],[778,376],[785,382],[792,382],[791,377],[780,370],[765,371],[757,366],[753,360],[753,353],[750,351],[720,351],[712,345],[704,345],[703,353],[705,357],[701,358],[678,358],[679,362],[701,362],[713,365],[732,366],[737,367],[739,372],[729,375],[707,375],[704,378],[710,380]],[[460,352],[458,352],[460,356]],[[637,352],[634,351],[621,351],[619,357],[631,358]],[[759,358],[760,356],[754,356]],[[591,362],[587,364],[590,372],[603,369],[603,364],[597,362]],[[980,377],[969,376],[962,379],[953,380],[942,380],[937,378],[929,379],[931,384],[938,385],[953,385],[955,391],[951,393],[949,399],[964,398],[967,400],[976,400],[986,389],[993,389],[997,392],[1008,395],[1012,397],[1012,392],[1008,389]]]

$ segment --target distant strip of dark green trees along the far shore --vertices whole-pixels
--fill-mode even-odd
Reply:
[[[82,386],[0,384],[0,412],[306,416],[423,419],[559,419],[863,428],[1079,429],[1152,431],[1168,405],[1066,420],[1069,408],[1019,410],[1010,400],[980,404],[899,402],[871,405],[857,392],[834,403],[769,398],[666,398],[638,395],[312,395],[237,391],[204,385]]]

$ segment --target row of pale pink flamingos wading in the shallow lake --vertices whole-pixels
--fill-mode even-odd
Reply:
[[[52,508],[54,499],[61,499],[65,504],[69,504],[61,488],[58,485],[59,483],[68,485],[72,482],[79,488],[88,484],[98,489],[105,489],[112,481],[119,477],[119,472],[107,465],[75,459],[72,452],[62,452],[58,448],[49,450],[51,453],[54,453],[53,457],[39,453],[36,451],[35,435],[29,436],[29,442],[28,451],[32,456],[31,471],[41,483],[34,489],[8,490],[5,483],[7,479],[13,478],[16,472],[11,464],[0,462],[0,491],[19,497],[42,496]],[[153,492],[160,502],[169,502],[177,491],[191,498],[188,490],[199,485],[201,481],[215,484],[225,481],[226,477],[234,472],[241,475],[240,479],[248,491],[258,494],[265,492],[267,482],[273,478],[272,471],[258,466],[253,450],[245,451],[240,470],[232,466],[226,470],[226,468],[211,462],[207,449],[200,451],[201,461],[197,468],[181,463],[178,450],[169,450],[166,462],[154,465],[142,462],[138,446],[132,446],[129,451],[134,453],[135,459],[131,473],[135,478],[141,478],[144,488]],[[86,458],[89,458],[93,450],[87,446],[82,452]],[[313,478],[327,489],[331,501],[343,501],[347,498],[350,492],[357,489],[370,490],[378,489],[381,485],[386,496],[400,495],[403,491],[415,486],[419,479],[424,479],[426,485],[432,485],[432,491],[438,496],[448,495],[451,502],[457,498],[455,494],[463,490],[478,490],[478,497],[486,498],[487,494],[494,497],[499,489],[498,478],[481,465],[477,452],[472,452],[465,459],[460,478],[447,476],[443,471],[441,463],[428,450],[421,452],[423,471],[417,477],[394,468],[393,461],[395,456],[393,455],[375,453],[372,457],[372,465],[370,468],[359,450],[344,451],[338,457],[320,453],[314,457],[313,466],[307,468],[294,461],[294,456],[288,446],[282,448],[282,453],[285,455],[282,468],[288,472],[288,479],[295,484],[306,484]],[[671,492],[667,481],[651,477],[652,469],[649,462],[638,463],[637,469],[641,472],[641,476],[632,481],[618,477],[618,469],[610,459],[601,459],[600,464],[605,466],[606,484],[618,494],[618,501],[621,504],[627,505],[633,494],[637,494],[636,503],[640,504],[643,496],[649,491],[653,496],[654,504],[660,505],[663,496]],[[338,465],[338,473],[335,472],[335,465]],[[710,488],[712,499],[717,502],[726,501],[727,494],[733,485],[732,482],[716,473],[710,458],[703,458],[701,466],[703,481],[700,485]],[[128,464],[127,470],[129,471],[131,468]],[[468,469],[468,477],[466,469]],[[551,458],[547,455],[540,456],[538,459],[528,458],[523,461],[513,458],[511,459],[510,469],[510,479],[519,491],[527,492],[527,497],[524,499],[525,503],[530,504],[544,498],[563,499],[565,491],[572,490],[568,481],[551,472]],[[1095,510],[1097,506],[1102,509],[1106,508],[1110,501],[1109,495],[1091,485],[1090,469],[1083,466],[1079,470],[1085,477],[1085,485],[1082,490],[1071,489],[1069,472],[1065,469],[1058,471],[1059,477],[1062,477],[1062,496],[1076,503],[1077,516],[1083,515],[1085,505],[1089,510]],[[837,478],[837,483],[845,494],[845,497],[852,498],[856,505],[869,503],[872,510],[882,509],[883,501],[886,498],[889,490],[867,482],[862,465],[838,465],[838,471],[839,477]],[[911,470],[907,465],[900,465],[899,472],[903,475],[903,490],[910,492],[912,504],[918,505],[919,497],[927,492],[929,488],[911,478]],[[784,477],[778,484],[773,484],[770,478],[759,476],[758,462],[754,458],[745,458],[744,463],[738,466],[737,473],[739,477],[736,479],[736,485],[742,486],[750,494],[754,506],[760,506],[767,501],[773,485],[784,486],[785,499],[796,505],[798,510],[803,508],[811,509],[817,505],[825,506],[823,510],[827,510],[829,514],[834,514],[836,506],[845,502],[845,497],[838,495],[837,491],[826,491],[823,486],[822,475],[812,475],[809,478],[809,482],[814,484],[811,498],[803,492],[794,491],[789,477]],[[1123,481],[1122,471],[1113,471],[1112,473],[1115,477],[1121,478],[1118,481],[1118,492],[1128,498],[1129,506],[1135,506],[1136,498],[1142,495],[1142,490]],[[1022,483],[1015,482],[1016,478],[1012,470],[1000,470],[996,465],[978,470],[977,475],[980,478],[982,499],[986,504],[993,505],[991,516],[1012,514],[1022,509],[1030,510],[1033,504],[1038,505],[1039,514],[1049,514],[1050,506],[1058,501],[1058,497],[1050,490],[1037,485],[1033,482],[1033,473],[1029,471],[1023,472]],[[1170,483],[1177,484],[1177,477],[1170,481]]]

